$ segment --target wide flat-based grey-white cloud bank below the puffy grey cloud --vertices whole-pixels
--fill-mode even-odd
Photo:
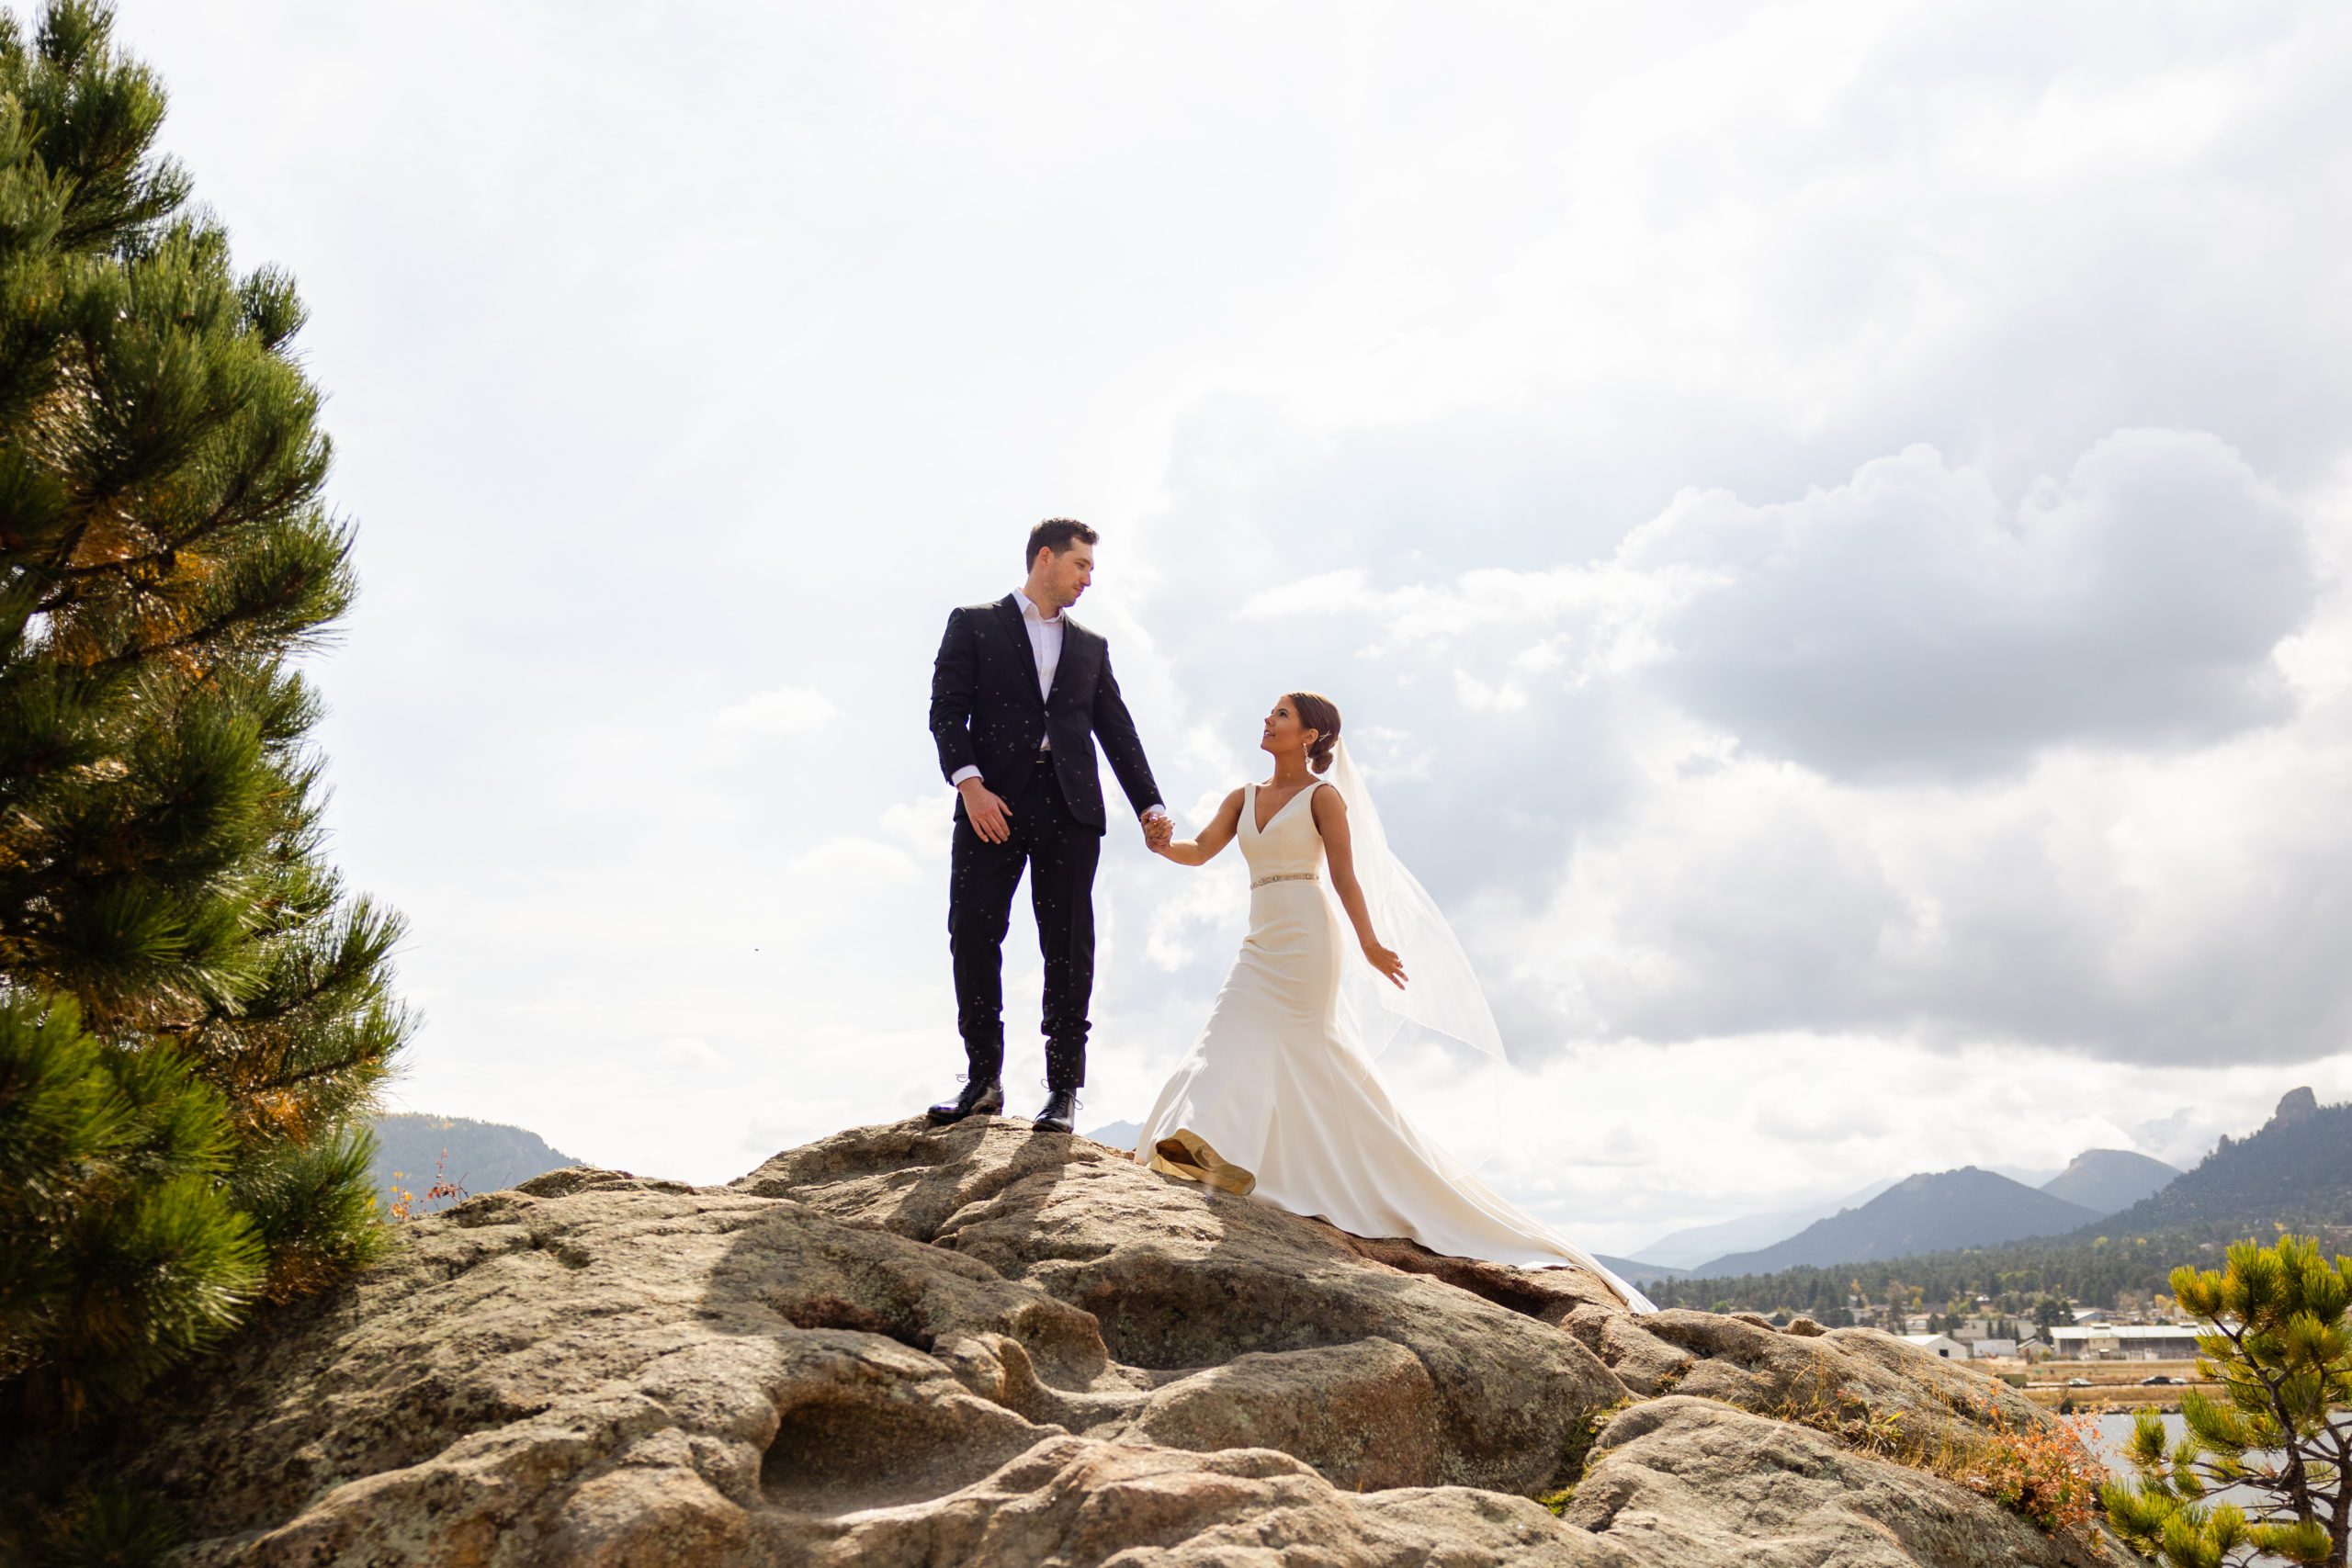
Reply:
[[[1522,976],[1581,1030],[1999,1039],[2117,1063],[2314,1060],[2352,1037],[2324,914],[2352,748],[2067,752],[1971,790],[1656,769],[1578,842]]]

